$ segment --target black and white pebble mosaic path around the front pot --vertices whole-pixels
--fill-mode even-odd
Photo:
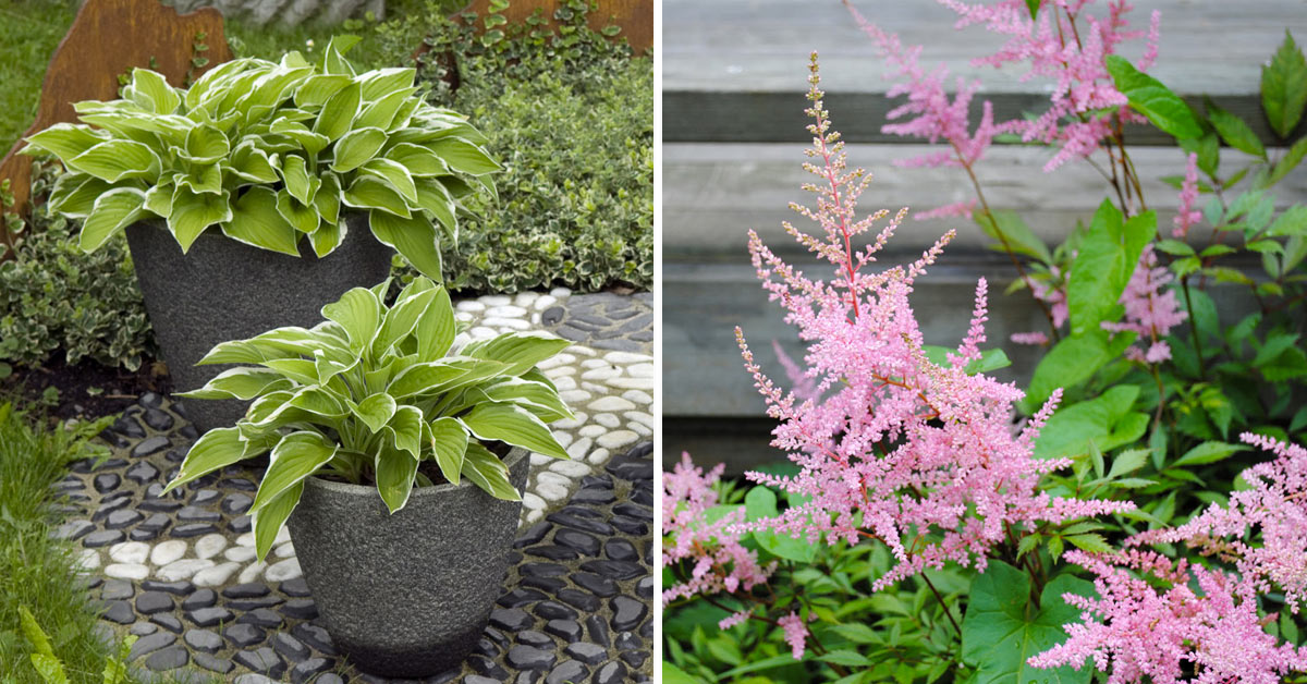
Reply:
[[[545,369],[576,413],[554,424],[574,460],[532,456],[491,626],[463,671],[430,681],[609,684],[652,674],[650,303],[566,290],[457,302],[467,339],[541,328],[575,337]],[[69,514],[56,534],[80,547],[103,625],[139,637],[136,668],[238,684],[386,681],[337,657],[286,531],[267,562],[254,561],[246,511],[257,473],[238,464],[161,496],[196,437],[180,404],[146,394],[102,437],[111,455],[74,463],[56,485]]]

